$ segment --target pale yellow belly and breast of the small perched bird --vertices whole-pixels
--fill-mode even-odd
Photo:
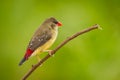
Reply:
[[[35,56],[35,55],[41,54],[45,50],[49,49],[52,46],[52,44],[55,42],[55,40],[57,38],[57,34],[58,34],[58,32],[54,32],[54,34],[53,34],[54,37],[52,37],[44,45],[40,46],[37,50],[35,50],[31,56]]]

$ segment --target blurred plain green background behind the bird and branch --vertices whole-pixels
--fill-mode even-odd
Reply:
[[[28,80],[120,80],[119,0],[0,0],[0,80],[20,80],[37,63],[33,57],[18,66],[34,31],[51,16],[63,24],[51,49],[96,23],[103,30],[72,40]]]

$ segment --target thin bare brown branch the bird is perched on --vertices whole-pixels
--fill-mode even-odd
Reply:
[[[71,41],[72,39],[78,37],[79,35],[82,35],[84,33],[87,33],[91,30],[94,30],[94,29],[102,29],[98,24],[95,24],[93,26],[91,26],[90,28],[87,28],[87,29],[84,29],[80,32],[77,32],[75,34],[73,34],[72,36],[68,37],[66,40],[64,40],[61,44],[59,44],[55,49],[53,49],[51,51],[51,55],[46,55],[43,59],[41,59],[37,64],[35,64],[34,66],[32,66],[32,68],[28,71],[27,74],[24,75],[24,77],[22,78],[22,80],[26,80],[31,74],[33,71],[36,70],[36,68],[38,68],[40,65],[42,65],[48,58],[50,58],[53,54],[56,53],[56,51],[58,51],[61,47],[63,47],[65,44],[67,44],[69,41]]]

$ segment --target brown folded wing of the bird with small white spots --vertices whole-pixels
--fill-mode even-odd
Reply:
[[[50,31],[43,31],[41,34],[35,35],[29,45],[28,48],[31,50],[36,50],[38,47],[44,45],[48,40],[50,40],[52,37]]]

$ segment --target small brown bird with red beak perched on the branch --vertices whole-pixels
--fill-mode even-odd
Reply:
[[[51,51],[49,48],[55,42],[58,35],[58,27],[60,26],[62,26],[62,23],[54,17],[46,19],[33,34],[19,66],[32,56],[36,56],[40,60],[39,54],[43,52],[49,53]]]

